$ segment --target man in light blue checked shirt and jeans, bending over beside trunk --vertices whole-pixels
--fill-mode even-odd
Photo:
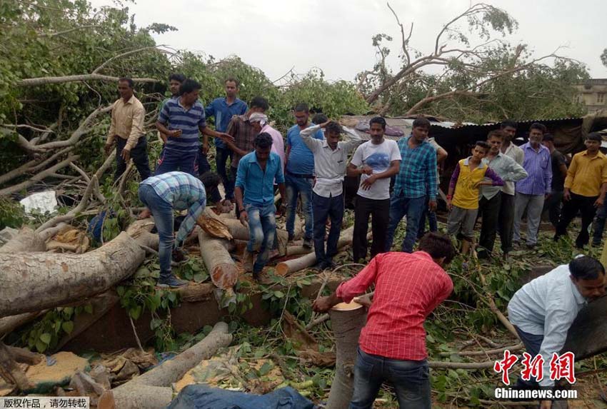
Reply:
[[[205,176],[208,178],[205,179]],[[206,207],[206,189],[214,188],[219,177],[206,174],[201,179],[184,172],[168,172],[151,176],[139,185],[139,199],[151,210],[160,238],[159,287],[180,287],[186,281],[171,273],[171,255],[181,257],[181,246],[196,226],[196,220]],[[173,212],[187,210],[177,235],[173,236]]]

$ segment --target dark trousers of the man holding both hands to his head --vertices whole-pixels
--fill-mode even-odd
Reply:
[[[314,253],[318,263],[331,262],[337,254],[337,241],[343,219],[343,193],[325,198],[312,192],[312,213],[314,215]],[[326,219],[331,219],[325,251]]]

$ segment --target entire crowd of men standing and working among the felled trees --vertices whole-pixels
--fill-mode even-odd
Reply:
[[[517,124],[503,121],[486,141],[476,141],[471,155],[458,161],[451,173],[448,235],[443,235],[436,233],[435,212],[438,164],[447,152],[428,138],[431,127],[426,118],[416,118],[411,135],[396,142],[385,138],[386,121],[377,116],[368,123],[370,140],[363,142],[324,116],[317,115],[310,123],[308,106],[299,103],[285,149],[283,136],[269,124],[266,99],[257,96],[248,106],[238,98],[239,82],[229,78],[226,96],[204,107],[199,100],[201,84],[174,74],[169,77],[173,96],[163,101],[156,122],[163,148],[152,175],[144,106],[134,96],[131,79],[120,79],[118,89],[121,99],[114,103],[105,150],[116,148],[116,178],[130,159],[140,173],[139,198],[147,207],[141,216],[151,213],[159,232],[159,286],[185,284],[171,273],[171,265],[184,260],[181,246],[204,212],[207,196],[224,211],[235,211],[248,226],[242,262],[254,279],[261,278],[276,246],[277,213],[286,213],[289,240],[294,238],[300,199],[303,246],[314,248],[319,269],[331,268],[344,213],[343,178],[360,178],[352,251],[354,261],[366,261],[371,216],[370,261],[355,278],[313,304],[314,310],[323,312],[375,286],[372,303],[366,302],[370,310],[359,342],[351,408],[371,408],[384,381],[394,385],[401,408],[430,407],[423,321],[453,291],[444,270],[456,253],[452,239],[461,239],[464,253],[475,248],[479,218],[479,258],[493,256],[497,234],[503,257],[508,258],[523,239],[525,215],[526,246],[536,246],[543,212],[556,228],[555,240],[566,235],[581,213],[579,248],[588,244],[596,216],[593,245],[601,243],[607,218],[607,158],[597,133],[587,136],[586,151],[576,153],[567,166],[541,123],[531,125],[528,142],[519,147],[512,142]],[[214,130],[206,122],[211,117]],[[215,138],[217,174],[211,173],[207,160],[209,136]],[[341,140],[342,136],[346,137]],[[224,186],[223,198],[219,183]],[[276,191],[283,198],[280,209],[274,203]],[[187,215],[174,233],[176,210]],[[403,217],[401,251],[391,251]],[[424,235],[426,219],[431,232]],[[509,317],[528,352],[549,357],[560,352],[578,311],[604,293],[603,266],[583,256],[523,286],[508,306]],[[553,382],[539,385],[549,388]],[[518,387],[538,387],[538,380],[521,381]],[[550,407],[549,400],[542,402],[542,408]]]

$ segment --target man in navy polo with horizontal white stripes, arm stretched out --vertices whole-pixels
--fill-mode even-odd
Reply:
[[[179,88],[179,98],[164,104],[156,122],[156,128],[167,136],[164,152],[156,168],[156,175],[166,172],[183,171],[196,176],[197,158],[200,148],[199,131],[208,146],[208,136],[232,141],[234,138],[224,132],[217,132],[206,126],[204,108],[199,101],[201,85],[186,79]]]

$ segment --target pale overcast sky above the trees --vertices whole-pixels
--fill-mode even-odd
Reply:
[[[111,0],[92,0],[94,6]],[[606,0],[488,0],[519,24],[508,40],[529,44],[537,55],[582,61],[593,78],[607,78],[599,58],[607,47]],[[431,50],[442,25],[464,11],[468,0],[391,0],[401,22],[413,21],[411,45]],[[298,74],[321,68],[329,80],[352,81],[376,61],[371,36],[393,37],[391,67],[398,69],[400,32],[381,0],[139,0],[129,4],[138,26],[166,23],[179,31],[155,35],[157,44],[201,51],[221,59],[236,54],[271,80],[291,67]]]

